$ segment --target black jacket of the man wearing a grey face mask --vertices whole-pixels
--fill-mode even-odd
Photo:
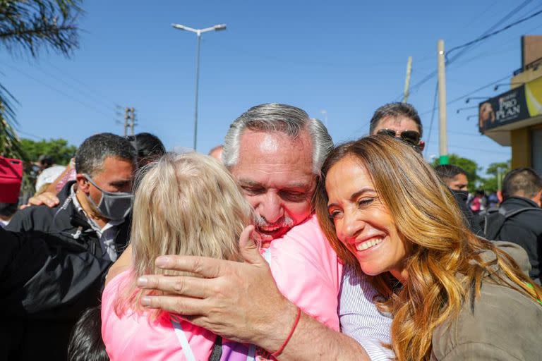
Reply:
[[[24,285],[20,304],[25,316],[8,315],[10,327],[18,329],[23,324],[24,330],[22,338],[13,341],[18,341],[18,348],[7,360],[65,360],[73,325],[84,310],[100,303],[112,262],[103,258],[100,238],[71,202],[72,184],[59,193],[59,206],[28,207],[6,227],[8,231],[40,231],[48,249],[40,251],[45,253],[42,267]],[[118,226],[119,254],[126,247],[129,227],[130,219]]]

